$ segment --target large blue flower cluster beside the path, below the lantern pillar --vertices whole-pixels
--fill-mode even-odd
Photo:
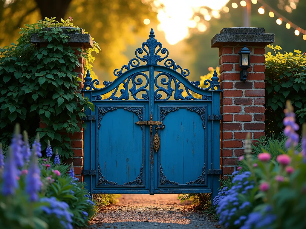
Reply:
[[[247,194],[254,187],[253,181],[249,181],[251,173],[237,173],[239,171],[233,173],[233,175],[236,175],[232,181],[233,187],[229,190],[227,187],[224,187],[219,191],[213,202],[213,205],[218,205],[216,211],[219,215],[219,223],[224,224],[225,227],[243,225],[247,219],[245,213],[248,211],[246,209],[251,207],[250,202],[245,202],[239,198],[239,195]]]

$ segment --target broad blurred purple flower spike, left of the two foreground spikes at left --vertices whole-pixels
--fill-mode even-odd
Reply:
[[[16,162],[14,159],[15,158],[12,152],[12,148],[9,147],[8,156],[6,158],[4,170],[2,173],[2,194],[5,196],[15,194],[15,190],[18,187],[18,169],[16,167]]]

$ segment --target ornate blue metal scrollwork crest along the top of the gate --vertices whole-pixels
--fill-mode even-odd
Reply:
[[[141,54],[145,54],[142,57],[140,56]],[[163,57],[159,54],[162,54]],[[130,73],[130,75],[125,74],[126,72],[130,72],[132,69],[142,67],[145,65],[158,65],[158,62],[164,61],[164,66],[161,66],[165,68],[165,71],[160,71],[159,74],[156,76],[152,75],[150,77],[154,77],[154,84],[157,87],[157,89],[154,92],[154,97],[155,100],[169,100],[170,97],[172,96],[174,92],[174,100],[208,100],[208,97],[204,93],[207,90],[216,90],[220,91],[220,82],[218,82],[219,78],[217,76],[217,72],[215,71],[213,74],[213,77],[210,79],[207,79],[204,81],[204,85],[207,86],[206,88],[200,88],[200,81],[193,81],[190,82],[188,81],[188,86],[182,83],[182,78],[186,78],[190,72],[188,69],[183,69],[180,65],[177,65],[174,60],[172,59],[166,59],[169,55],[169,51],[166,48],[162,48],[162,44],[158,42],[155,39],[154,31],[151,29],[149,39],[147,39],[146,42],[143,42],[141,45],[141,48],[136,49],[135,51],[135,56],[136,58],[133,58],[129,61],[128,64],[125,64],[121,67],[119,70],[116,68],[114,70],[114,76],[116,77],[121,77],[122,80],[120,81],[119,79],[116,79],[115,81],[110,82],[110,81],[104,81],[103,85],[105,85],[104,88],[110,87],[110,85],[113,85],[114,83],[116,84],[115,88],[112,87],[109,91],[105,92],[109,93],[110,91],[114,90],[111,93],[111,96],[109,96],[106,99],[102,99],[102,96],[104,95],[98,95],[95,96],[95,100],[129,100],[129,92],[131,93],[131,96],[135,100],[148,100],[149,97],[149,91],[147,89],[147,86],[149,84],[149,77],[144,73],[144,71],[148,71],[148,69],[144,70],[144,68],[141,68],[138,72],[135,73]],[[142,62],[146,62],[145,65],[140,65],[140,60]],[[170,71],[167,69],[171,69]],[[177,75],[179,74],[180,77]],[[125,76],[123,76],[125,75]],[[139,76],[144,77],[144,80],[140,78]],[[160,86],[157,81],[158,78],[161,76],[165,76],[161,78]],[[138,78],[137,78],[138,77]],[[137,78],[137,79],[136,79]],[[178,79],[180,78],[180,79]],[[183,80],[185,81],[185,79]],[[132,82],[132,87],[128,89],[129,83]],[[174,83],[174,88],[171,87],[171,83]],[[144,85],[143,85],[144,84]],[[180,88],[181,84],[183,87]],[[99,80],[94,79],[90,77],[89,71],[87,71],[86,77],[84,78],[84,90],[83,91],[91,91],[91,90],[99,90],[96,86],[99,85]],[[141,86],[142,85],[142,86]],[[137,88],[139,86],[139,88]],[[166,86],[165,88],[163,86]],[[123,88],[122,88],[123,87]],[[103,89],[104,89],[103,88]],[[120,89],[122,88],[122,89]],[[118,97],[116,96],[116,93],[120,89],[121,95]],[[201,92],[199,92],[199,89]],[[197,91],[197,93],[195,92]],[[140,92],[143,92],[141,95],[141,98],[136,97],[136,95]],[[165,93],[165,98],[162,98],[162,93]],[[202,93],[203,92],[203,93]],[[183,95],[185,93],[185,95]],[[193,96],[196,93],[199,96]]]

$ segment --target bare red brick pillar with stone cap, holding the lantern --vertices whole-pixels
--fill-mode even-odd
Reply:
[[[264,28],[223,28],[211,40],[219,48],[221,96],[221,157],[223,174],[237,168],[237,159],[244,154],[247,133],[254,140],[265,130],[265,46],[274,42],[274,34]],[[246,82],[240,81],[239,54],[244,46],[250,49],[250,64]]]

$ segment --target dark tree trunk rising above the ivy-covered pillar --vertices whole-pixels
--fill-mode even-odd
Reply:
[[[56,17],[55,20],[61,21],[61,18],[65,20],[65,14],[67,13],[71,0],[35,0],[42,19],[45,17]]]

